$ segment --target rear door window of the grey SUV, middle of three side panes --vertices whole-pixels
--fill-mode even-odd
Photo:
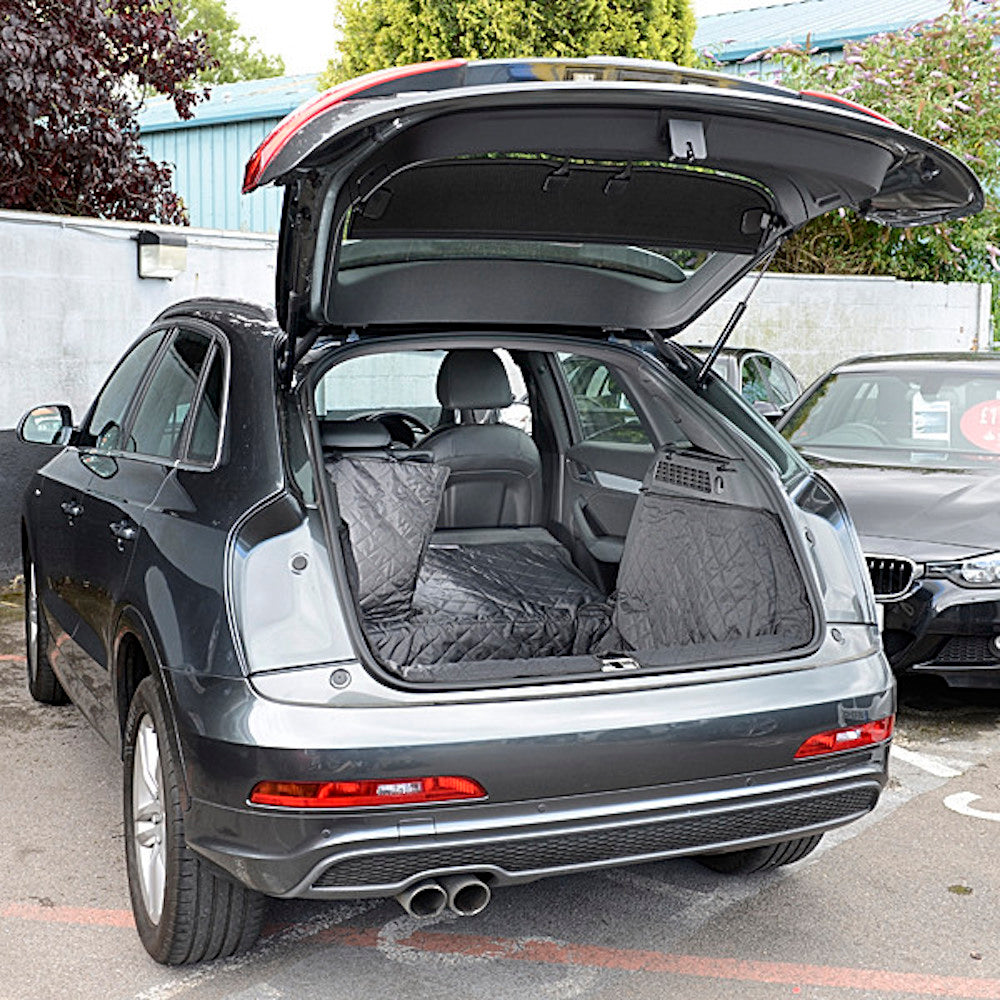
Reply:
[[[211,338],[190,330],[173,335],[139,404],[125,451],[177,458]]]

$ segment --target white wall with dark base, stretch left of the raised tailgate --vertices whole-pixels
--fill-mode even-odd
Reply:
[[[52,454],[16,441],[21,415],[69,403],[79,418],[125,347],[171,302],[274,301],[274,236],[176,229],[188,241],[187,270],[139,278],[136,233],[171,228],[0,211],[0,582],[20,570],[21,496]]]

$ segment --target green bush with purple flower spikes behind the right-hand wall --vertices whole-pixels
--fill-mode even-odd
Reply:
[[[780,82],[840,94],[946,146],[969,164],[986,191],[971,219],[888,229],[852,212],[823,216],[788,241],[775,262],[787,271],[884,274],[910,280],[990,281],[1000,294],[1000,18],[961,0],[936,20],[844,48],[816,63],[807,49],[772,50]]]

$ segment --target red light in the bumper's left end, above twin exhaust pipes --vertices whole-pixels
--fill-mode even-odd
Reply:
[[[486,790],[478,781],[453,775],[392,781],[259,781],[250,793],[255,805],[287,809],[350,809],[484,798]]]

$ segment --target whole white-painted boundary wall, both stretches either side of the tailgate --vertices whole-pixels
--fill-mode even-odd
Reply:
[[[68,402],[80,417],[124,348],[171,302],[273,302],[271,236],[181,229],[187,270],[171,281],[140,279],[136,233],[163,228],[0,211],[0,580],[18,569],[21,495],[48,453],[15,441],[21,415]],[[713,341],[746,287],[682,339]],[[985,348],[989,293],[973,284],[767,275],[732,343],[774,351],[806,383],[855,354]]]

